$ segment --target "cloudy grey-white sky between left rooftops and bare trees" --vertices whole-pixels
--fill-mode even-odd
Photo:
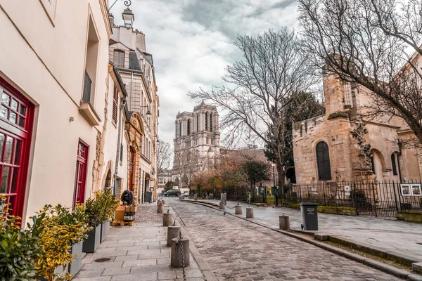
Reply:
[[[117,0],[110,11],[116,24],[122,24],[124,7]],[[237,34],[298,30],[297,7],[295,0],[132,0],[134,28],[146,34],[154,58],[159,138],[172,144],[177,112],[192,111],[199,102],[188,91],[222,84],[224,67],[239,58]]]

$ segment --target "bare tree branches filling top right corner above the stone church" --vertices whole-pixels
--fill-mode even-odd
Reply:
[[[369,89],[364,117],[400,117],[421,145],[421,1],[299,0],[299,11],[309,59]]]

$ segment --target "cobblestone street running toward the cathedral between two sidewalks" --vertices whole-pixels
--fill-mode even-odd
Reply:
[[[169,204],[218,280],[401,280],[207,207]]]

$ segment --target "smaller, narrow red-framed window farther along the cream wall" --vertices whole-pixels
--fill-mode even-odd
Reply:
[[[77,144],[77,160],[75,173],[75,195],[73,199],[73,207],[76,204],[85,202],[85,188],[87,185],[87,166],[88,166],[89,146],[79,140]]]

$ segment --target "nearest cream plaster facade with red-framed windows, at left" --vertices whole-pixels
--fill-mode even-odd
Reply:
[[[0,193],[25,221],[98,188],[112,30],[104,0],[1,0],[0,25]]]

